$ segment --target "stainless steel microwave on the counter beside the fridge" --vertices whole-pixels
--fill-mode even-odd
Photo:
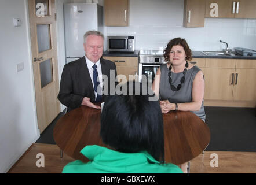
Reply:
[[[134,52],[134,36],[108,36],[108,51]]]

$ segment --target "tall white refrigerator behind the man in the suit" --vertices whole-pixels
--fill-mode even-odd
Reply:
[[[103,7],[97,3],[64,4],[66,64],[85,56],[83,35],[89,30],[103,33]]]

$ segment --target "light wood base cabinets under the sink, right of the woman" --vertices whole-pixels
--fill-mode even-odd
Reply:
[[[205,106],[256,106],[256,60],[195,58],[191,63],[204,73]]]

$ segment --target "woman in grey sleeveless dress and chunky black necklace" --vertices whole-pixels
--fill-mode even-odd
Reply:
[[[191,49],[185,39],[170,40],[163,56],[167,64],[156,72],[152,89],[159,97],[162,113],[170,110],[192,111],[205,121],[203,72],[191,61]],[[181,165],[186,171],[186,164]]]

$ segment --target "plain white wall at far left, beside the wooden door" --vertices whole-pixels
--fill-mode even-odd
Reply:
[[[39,138],[26,0],[0,1],[0,173]],[[13,26],[21,19],[21,27]],[[16,65],[24,62],[24,70]]]

